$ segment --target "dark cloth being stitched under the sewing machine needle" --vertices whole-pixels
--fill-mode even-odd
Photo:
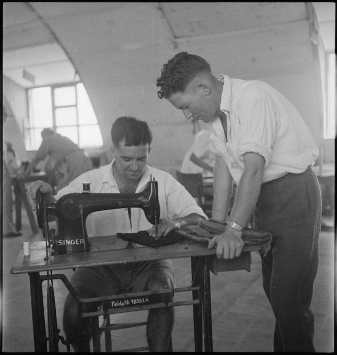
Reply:
[[[146,231],[140,231],[138,233],[117,233],[117,237],[133,243],[138,243],[146,246],[160,246],[168,245],[180,242],[183,237],[175,230],[168,233],[165,237],[160,237],[155,240]]]

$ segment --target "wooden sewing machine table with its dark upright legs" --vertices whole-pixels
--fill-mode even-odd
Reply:
[[[211,289],[209,266],[214,263],[215,249],[208,249],[207,244],[193,243],[186,248],[185,243],[176,243],[159,247],[141,247],[112,250],[113,238],[116,236],[92,237],[92,248],[87,253],[65,254],[46,257],[45,241],[32,242],[30,255],[23,254],[21,248],[11,269],[11,274],[28,273],[30,279],[31,311],[33,335],[36,352],[47,352],[47,337],[43,307],[43,294],[40,272],[75,269],[78,267],[122,264],[161,259],[176,259],[190,257],[192,272],[195,272],[196,284],[200,286],[202,297],[200,305],[193,305],[195,351],[213,351],[212,319],[211,319]],[[49,251],[50,254],[50,251]],[[244,252],[245,260],[250,261],[250,253]],[[238,258],[235,258],[238,259]],[[228,271],[246,269],[232,268],[235,259],[228,262]],[[244,263],[247,265],[247,262]],[[194,271],[193,271],[194,270]],[[223,269],[221,271],[226,271]],[[193,292],[193,299],[196,294]]]

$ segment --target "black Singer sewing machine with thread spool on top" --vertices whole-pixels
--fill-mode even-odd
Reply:
[[[156,226],[160,217],[158,182],[152,176],[139,193],[91,193],[90,183],[84,182],[82,192],[68,193],[57,202],[47,202],[37,192],[37,219],[46,239],[46,248],[52,246],[51,255],[74,254],[90,251],[91,245],[85,227],[88,215],[95,211],[116,208],[142,208],[148,221]],[[58,219],[58,233],[49,230],[48,214]]]

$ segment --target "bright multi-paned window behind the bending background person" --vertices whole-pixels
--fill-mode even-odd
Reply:
[[[52,128],[82,149],[103,146],[97,118],[83,83],[36,87],[28,89],[27,94],[27,150],[39,149],[44,128]]]

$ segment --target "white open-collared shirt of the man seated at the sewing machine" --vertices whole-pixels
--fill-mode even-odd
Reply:
[[[82,182],[90,182],[91,192],[120,193],[112,174],[112,163],[88,171],[73,180],[68,186],[62,188],[54,196],[58,200],[61,196],[71,192],[82,192]],[[191,213],[197,213],[205,218],[206,214],[197,206],[194,198],[187,192],[172,175],[161,170],[147,166],[136,193],[141,192],[150,175],[158,182],[158,199],[160,206],[160,218],[175,219],[185,217]],[[146,231],[152,227],[141,208],[131,208],[131,219],[127,208],[118,208],[91,213],[86,220],[86,228],[89,237],[116,235],[117,233],[137,233]],[[117,239],[114,248],[122,249],[127,245],[126,241]],[[132,243],[134,247],[142,245]]]

